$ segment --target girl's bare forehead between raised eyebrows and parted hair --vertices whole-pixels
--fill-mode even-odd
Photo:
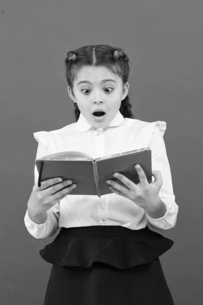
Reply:
[[[116,82],[119,82],[120,77],[115,75],[106,67],[92,67],[85,66],[81,68],[76,77],[76,82],[78,83],[81,80],[88,80],[91,83],[101,82],[103,79],[112,78]]]

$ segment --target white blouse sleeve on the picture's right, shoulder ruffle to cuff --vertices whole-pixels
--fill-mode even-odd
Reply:
[[[148,128],[148,146],[152,151],[152,170],[161,172],[163,184],[159,191],[159,198],[165,203],[167,210],[165,215],[161,218],[151,218],[147,213],[146,217],[153,228],[167,230],[176,225],[179,206],[175,202],[171,169],[163,140],[166,123],[164,121],[156,121],[150,123]],[[152,177],[152,182],[154,180],[154,177]]]

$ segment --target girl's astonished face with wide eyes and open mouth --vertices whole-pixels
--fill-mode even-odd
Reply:
[[[74,96],[67,86],[71,99],[95,128],[108,126],[118,112],[121,101],[127,96],[128,88],[128,82],[123,87],[121,78],[106,67],[92,66],[85,66],[79,71],[74,81]],[[105,115],[93,115],[98,109],[104,111]]]

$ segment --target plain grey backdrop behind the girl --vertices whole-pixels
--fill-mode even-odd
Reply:
[[[124,49],[134,118],[166,121],[164,141],[179,205],[174,240],[160,257],[176,305],[202,301],[201,0],[1,0],[0,303],[43,304],[51,264],[25,225],[38,142],[33,132],[75,122],[66,52],[87,44]],[[82,304],[81,304],[82,305]],[[96,304],[95,304],[96,305]]]

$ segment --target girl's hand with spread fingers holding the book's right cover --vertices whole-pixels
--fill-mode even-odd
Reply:
[[[114,173],[113,176],[121,180],[123,184],[126,185],[126,187],[121,186],[113,180],[106,180],[106,182],[110,182],[109,184],[111,187],[109,188],[115,194],[131,200],[144,209],[153,209],[153,207],[156,207],[160,202],[159,190],[163,184],[161,172],[152,171],[152,176],[154,176],[155,180],[149,184],[142,167],[140,165],[136,165],[134,167],[136,168],[139,175],[139,184],[134,184],[127,177],[119,173]]]

